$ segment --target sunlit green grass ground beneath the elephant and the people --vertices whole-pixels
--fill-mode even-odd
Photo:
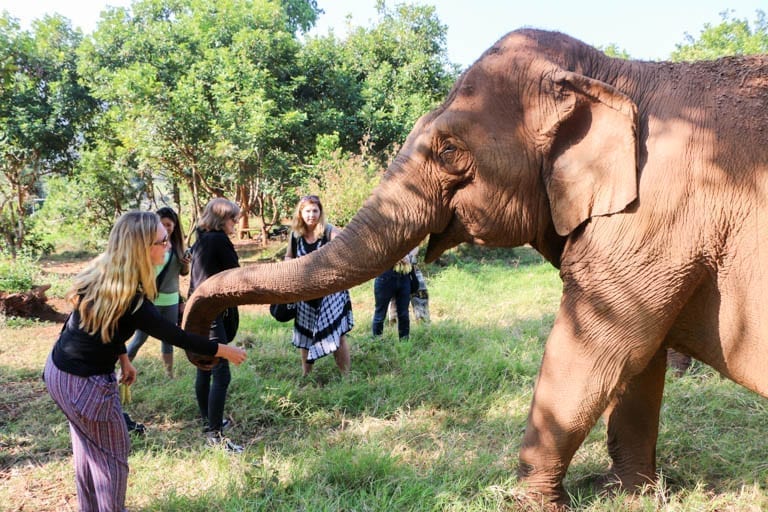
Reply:
[[[256,256],[254,256],[256,258]],[[332,358],[300,376],[290,324],[266,308],[241,315],[249,359],[233,370],[227,412],[241,456],[205,447],[194,368],[177,351],[163,375],[157,341],[135,364],[132,511],[519,510],[517,452],[544,342],[554,319],[557,271],[530,252],[452,254],[427,267],[432,323],[409,340],[387,327],[369,335],[372,283],[351,290],[352,371]],[[0,510],[76,510],[66,422],[39,374],[59,326],[0,328]],[[763,398],[694,365],[667,379],[659,483],[641,496],[594,482],[609,465],[599,423],[565,485],[584,511],[768,509],[768,411]]]

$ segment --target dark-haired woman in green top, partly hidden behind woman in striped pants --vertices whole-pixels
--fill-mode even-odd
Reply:
[[[168,233],[170,242],[162,265],[157,271],[157,297],[154,304],[160,314],[169,322],[178,323],[179,319],[179,276],[189,274],[189,257],[184,254],[184,233],[181,229],[179,216],[173,208],[163,207],[157,210],[163,227]],[[128,358],[133,361],[139,349],[147,341],[147,333],[136,331],[133,340],[128,345]],[[173,378],[173,345],[160,340],[160,353],[163,358],[165,374]],[[130,423],[129,423],[130,426]]]

